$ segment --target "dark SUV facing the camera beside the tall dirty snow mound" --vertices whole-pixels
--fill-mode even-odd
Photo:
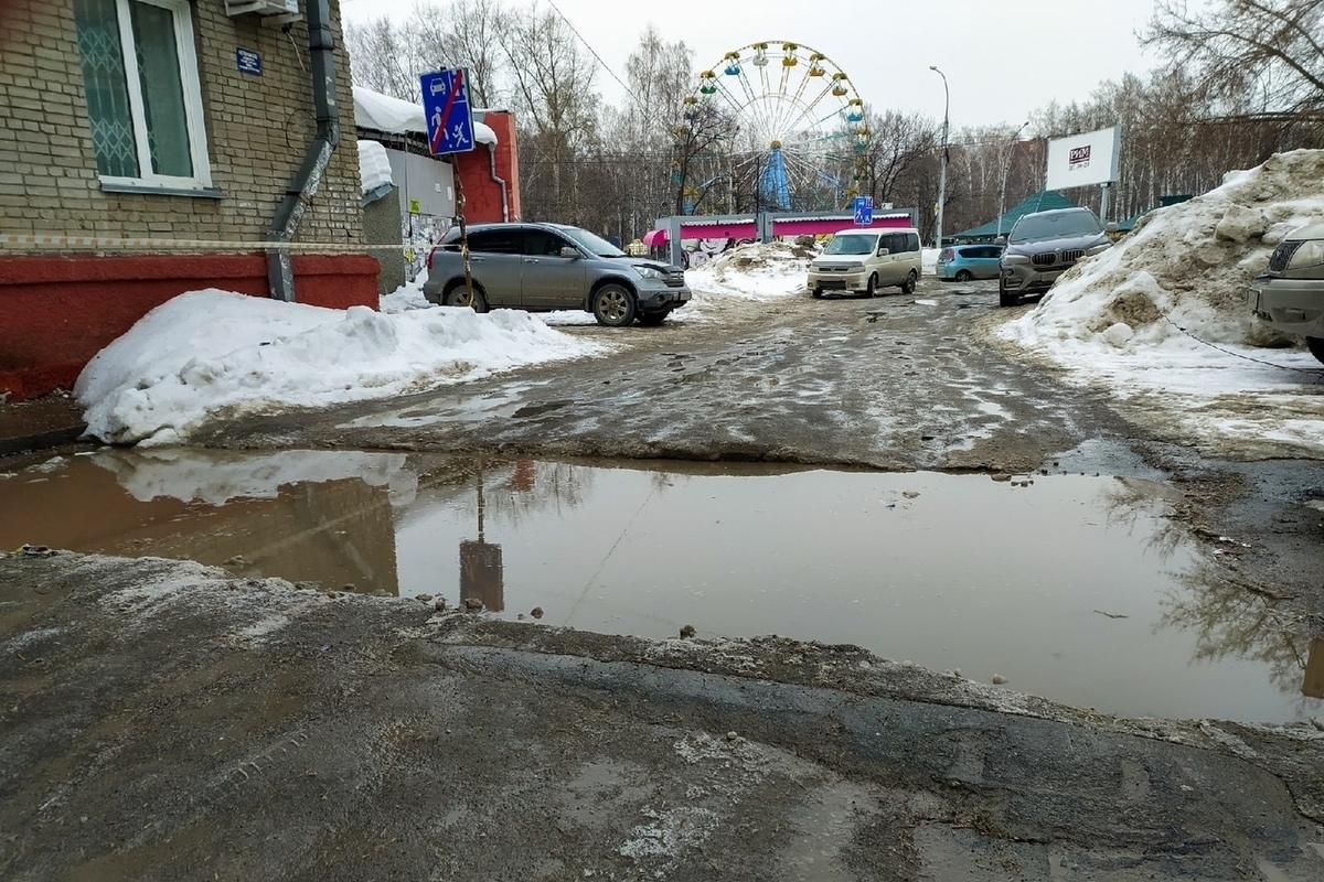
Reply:
[[[1043,294],[1078,261],[1111,245],[1099,218],[1087,208],[1021,216],[998,261],[998,303],[1014,307],[1022,296]]]

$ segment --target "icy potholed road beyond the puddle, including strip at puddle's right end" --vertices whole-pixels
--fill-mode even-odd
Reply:
[[[1033,305],[1000,308],[993,282],[932,278],[914,295],[728,299],[661,328],[565,328],[613,345],[604,357],[222,418],[197,442],[1145,477],[1181,491],[1174,516],[1230,579],[1324,628],[1324,516],[1308,508],[1324,496],[1320,464],[1211,458],[1164,436],[1152,401],[1063,382],[993,333]]]

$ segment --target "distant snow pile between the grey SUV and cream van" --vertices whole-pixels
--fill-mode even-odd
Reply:
[[[797,242],[755,242],[723,251],[702,267],[687,270],[691,305],[720,298],[768,300],[805,291],[813,246]],[[688,308],[688,307],[687,307]]]

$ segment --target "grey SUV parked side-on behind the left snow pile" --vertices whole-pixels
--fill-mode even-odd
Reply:
[[[467,229],[473,303],[465,283],[459,229],[428,255],[424,296],[478,312],[584,309],[598,324],[662,324],[690,300],[685,271],[634,258],[606,239],[563,223],[477,223]]]

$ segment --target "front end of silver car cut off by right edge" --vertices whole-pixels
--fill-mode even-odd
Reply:
[[[1305,337],[1324,361],[1324,223],[1287,234],[1250,288],[1255,317],[1283,333]]]

